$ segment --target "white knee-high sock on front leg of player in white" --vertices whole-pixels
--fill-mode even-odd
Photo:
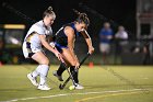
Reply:
[[[45,84],[46,83],[46,77],[48,75],[48,70],[49,70],[49,66],[48,65],[40,65],[42,68],[40,68],[40,81],[39,81],[39,84]]]

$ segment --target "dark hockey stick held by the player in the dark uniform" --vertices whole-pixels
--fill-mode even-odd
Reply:
[[[91,54],[90,53],[87,53],[86,54],[86,56],[82,59],[82,61],[80,63],[80,66],[87,59],[87,57],[90,56]],[[75,71],[78,71],[78,70],[75,70]],[[71,76],[73,76],[75,72],[72,72],[72,75]],[[60,90],[62,90],[64,87],[66,87],[66,84],[69,82],[69,80],[71,79],[71,76],[69,76],[69,78],[61,84],[59,84],[59,89]]]

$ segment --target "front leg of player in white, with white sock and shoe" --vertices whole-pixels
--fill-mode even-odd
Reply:
[[[35,53],[32,58],[39,64],[36,70],[32,72],[34,77],[37,75],[40,76],[38,89],[50,90],[50,88],[46,84],[46,78],[49,70],[49,59],[42,52]]]

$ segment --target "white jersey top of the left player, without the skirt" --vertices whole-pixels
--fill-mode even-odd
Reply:
[[[37,33],[37,34],[33,34],[31,36],[31,34],[34,33],[34,32]],[[42,21],[39,21],[39,22],[37,22],[37,23],[35,23],[31,26],[31,29],[28,30],[24,41],[30,42],[35,47],[42,47],[38,34],[39,35],[52,35],[52,29],[51,29],[51,26],[46,27],[44,25],[43,20],[42,20]],[[30,36],[31,36],[31,38],[27,39],[27,37],[30,37]]]

